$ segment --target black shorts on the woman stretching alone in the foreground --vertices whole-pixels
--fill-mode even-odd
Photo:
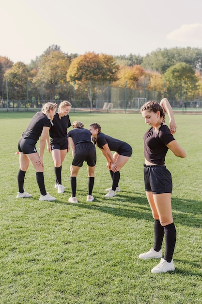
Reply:
[[[144,164],[145,191],[153,194],[172,193],[171,172],[164,165],[147,166]]]

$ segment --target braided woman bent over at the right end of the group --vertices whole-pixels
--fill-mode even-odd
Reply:
[[[106,189],[109,192],[105,197],[113,197],[116,195],[116,191],[120,191],[120,170],[132,155],[132,148],[126,142],[102,133],[98,123],[91,124],[90,131],[94,144],[100,148],[108,161],[107,168],[112,178],[112,187]],[[111,151],[115,151],[115,153],[112,155]]]

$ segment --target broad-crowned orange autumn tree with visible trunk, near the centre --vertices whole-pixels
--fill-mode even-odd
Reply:
[[[73,59],[67,71],[66,79],[71,84],[87,85],[88,97],[93,108],[93,82],[113,82],[118,79],[119,66],[112,56],[88,52]]]

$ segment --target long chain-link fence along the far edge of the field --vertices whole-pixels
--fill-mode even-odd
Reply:
[[[40,84],[38,87],[27,84],[27,87],[19,90],[9,87],[8,83],[6,91],[4,90],[4,98],[0,101],[0,111],[36,111],[47,101],[60,103],[68,100],[75,111],[122,111],[126,113],[138,111],[146,101],[160,101],[163,97],[167,97],[171,106],[176,109],[202,109],[202,98],[200,97],[202,94],[198,94],[197,98],[193,96],[192,100],[190,98],[185,100],[183,85],[179,85],[178,92],[181,94],[178,93],[178,98],[174,100],[169,98],[165,86],[163,91],[147,90],[144,84],[136,84],[136,86],[138,88],[131,89],[126,84],[125,87],[115,87],[109,83],[93,82],[75,85],[69,83]]]

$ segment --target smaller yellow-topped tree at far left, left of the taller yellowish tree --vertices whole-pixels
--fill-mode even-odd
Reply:
[[[24,100],[27,103],[27,84],[31,81],[29,68],[23,62],[17,62],[5,72],[4,80],[8,81],[9,99]]]

